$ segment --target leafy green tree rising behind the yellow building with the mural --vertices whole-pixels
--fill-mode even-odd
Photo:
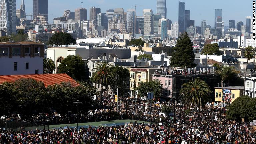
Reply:
[[[221,70],[217,70],[217,73],[219,73],[221,77],[221,86],[223,86],[224,82],[226,82],[229,85],[230,81],[237,77],[239,71],[236,71],[233,66],[222,66]]]

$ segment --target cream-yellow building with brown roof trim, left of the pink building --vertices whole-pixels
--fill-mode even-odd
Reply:
[[[130,69],[130,91],[131,97],[135,96],[134,88],[138,86],[139,82],[152,81],[152,75],[158,68],[132,68]]]

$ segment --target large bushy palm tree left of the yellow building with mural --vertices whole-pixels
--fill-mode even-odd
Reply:
[[[180,90],[181,101],[184,107],[199,110],[205,106],[211,92],[205,81],[196,78],[195,80],[184,83]]]

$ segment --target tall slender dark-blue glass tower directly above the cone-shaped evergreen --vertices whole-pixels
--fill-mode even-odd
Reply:
[[[186,31],[185,23],[185,3],[179,1],[179,33]]]

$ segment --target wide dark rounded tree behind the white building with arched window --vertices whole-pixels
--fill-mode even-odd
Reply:
[[[56,45],[68,45],[71,43],[75,44],[76,40],[72,37],[71,34],[59,32],[53,34],[48,43]]]

